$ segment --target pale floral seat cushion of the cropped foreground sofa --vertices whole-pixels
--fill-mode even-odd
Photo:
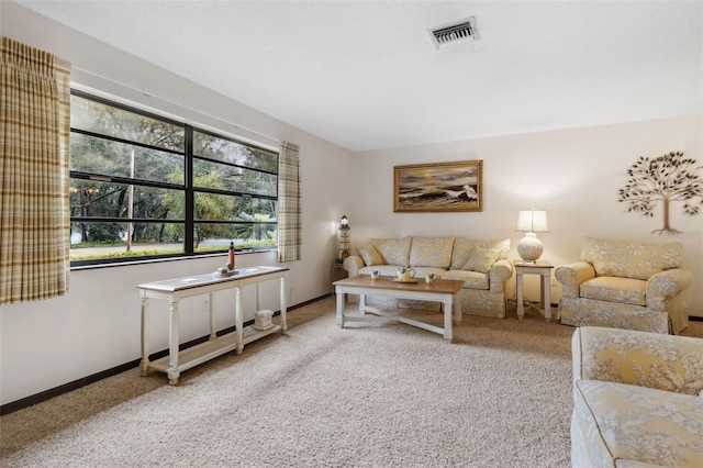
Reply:
[[[624,459],[660,466],[701,466],[703,400],[700,398],[624,383],[579,380],[574,385],[573,403],[572,424],[581,426],[584,439],[572,443],[591,449],[604,447],[598,455],[609,458],[590,463],[613,466],[614,460]]]

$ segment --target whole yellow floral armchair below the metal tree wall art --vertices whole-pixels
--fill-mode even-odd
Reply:
[[[689,324],[681,292],[693,282],[681,269],[682,254],[677,242],[585,237],[581,261],[555,271],[562,285],[561,323],[678,334]]]

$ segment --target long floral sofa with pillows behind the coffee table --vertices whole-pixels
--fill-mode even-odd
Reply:
[[[505,281],[513,275],[507,261],[510,239],[479,241],[468,237],[371,238],[357,247],[359,255],[347,257],[344,269],[349,276],[394,276],[399,267],[411,267],[417,278],[436,274],[445,279],[460,279],[462,313],[505,317]],[[350,299],[352,301],[358,298]],[[438,310],[438,303],[367,297],[370,304],[391,308]]]

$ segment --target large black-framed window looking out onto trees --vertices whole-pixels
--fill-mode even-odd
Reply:
[[[72,265],[275,248],[278,153],[71,93]]]

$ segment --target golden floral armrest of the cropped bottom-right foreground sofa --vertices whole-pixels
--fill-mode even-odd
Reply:
[[[703,339],[581,326],[571,341],[573,381],[604,380],[700,394]]]

